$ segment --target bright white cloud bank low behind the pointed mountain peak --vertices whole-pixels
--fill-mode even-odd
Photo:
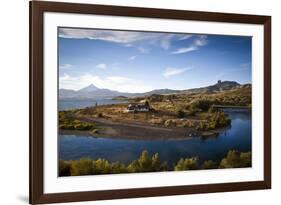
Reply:
[[[99,88],[129,93],[142,93],[152,90],[152,87],[148,86],[145,82],[124,76],[108,76],[102,78],[91,73],[86,73],[79,76],[64,74],[59,77],[60,89],[79,90],[90,84],[94,84]]]

